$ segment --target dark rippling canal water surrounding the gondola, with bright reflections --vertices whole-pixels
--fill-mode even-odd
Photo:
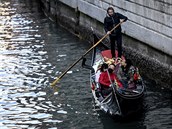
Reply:
[[[149,79],[145,112],[125,122],[95,110],[80,63],[50,86],[89,46],[47,19],[34,0],[0,1],[0,129],[171,129],[171,92]]]

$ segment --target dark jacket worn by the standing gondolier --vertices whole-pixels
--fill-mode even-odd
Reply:
[[[104,29],[106,32],[110,31],[113,29],[113,27],[115,27],[118,23],[120,23],[120,19],[124,19],[124,21],[127,21],[127,17],[120,14],[120,13],[114,13],[113,16],[109,16],[107,14],[107,16],[104,19]],[[112,33],[111,35],[116,35],[121,33],[121,26],[117,27]]]

